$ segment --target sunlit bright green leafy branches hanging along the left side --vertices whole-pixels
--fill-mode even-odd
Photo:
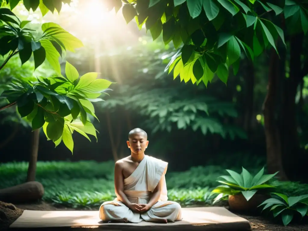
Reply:
[[[11,9],[18,2],[8,1]],[[38,1],[23,2],[28,10],[30,8],[35,10],[35,7],[41,8],[45,5],[50,9],[54,4],[59,12],[61,7],[57,8],[56,4],[62,6],[61,1],[51,3],[43,0],[43,3],[39,1],[38,5],[33,5]],[[90,138],[87,134],[96,137],[96,129],[89,117],[97,118],[92,102],[103,100],[99,97],[108,90],[111,82],[97,79],[98,73],[95,72],[86,73],[79,78],[78,71],[68,62],[64,77],[61,74],[59,57],[67,50],[74,52],[76,48],[82,47],[83,43],[53,22],[44,23],[43,34],[39,38],[34,38],[33,30],[25,28],[29,22],[21,22],[10,9],[0,8],[0,55],[6,57],[0,70],[14,55],[18,54],[21,63],[24,64],[33,54],[35,69],[47,59],[56,74],[47,78],[14,79],[4,85],[2,87],[4,91],[0,96],[10,103],[0,110],[17,104],[19,115],[31,123],[32,130],[43,128],[48,140],[52,140],[56,146],[63,141],[73,153],[74,131],[88,140]]]

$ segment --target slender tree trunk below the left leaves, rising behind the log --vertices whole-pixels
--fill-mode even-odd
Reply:
[[[27,173],[27,182],[35,181],[35,172],[36,172],[36,162],[38,160],[39,152],[39,129],[36,129],[32,132],[31,137],[31,153],[29,160],[29,167]]]

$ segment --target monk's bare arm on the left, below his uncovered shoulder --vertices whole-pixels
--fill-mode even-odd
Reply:
[[[119,162],[115,162],[115,195],[124,205],[128,208],[131,207],[132,203],[128,201],[128,198],[124,194],[123,168]]]

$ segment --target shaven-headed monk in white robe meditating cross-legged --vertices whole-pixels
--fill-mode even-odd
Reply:
[[[144,154],[147,139],[147,133],[140,128],[129,132],[127,145],[131,155],[115,163],[116,198],[100,206],[101,220],[132,223],[182,220],[181,206],[167,197],[168,163]]]

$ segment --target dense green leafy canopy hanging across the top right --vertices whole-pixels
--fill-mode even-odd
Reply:
[[[108,1],[118,10],[120,0]],[[122,7],[126,22],[135,18],[153,40],[162,34],[178,52],[166,67],[185,83],[207,86],[214,75],[227,83],[229,69],[237,73],[241,53],[250,59],[273,47],[286,46],[284,31],[265,18],[283,14],[288,32],[308,31],[306,1],[293,0],[127,0]],[[112,7],[110,7],[112,8]],[[265,14],[267,13],[267,14]]]

